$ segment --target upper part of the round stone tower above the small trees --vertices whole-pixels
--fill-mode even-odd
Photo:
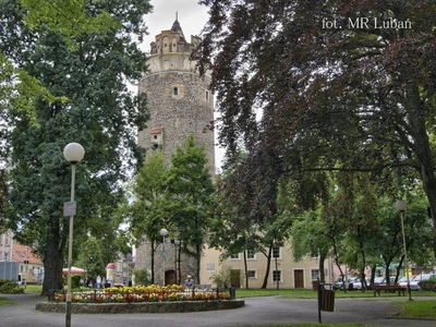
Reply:
[[[178,19],[171,29],[156,35],[148,59],[149,71],[140,81],[140,92],[147,94],[150,120],[138,133],[138,144],[148,149],[161,148],[170,160],[178,145],[190,134],[205,147],[211,177],[215,175],[214,97],[210,76],[199,77],[196,62],[190,57],[199,38],[187,43]]]

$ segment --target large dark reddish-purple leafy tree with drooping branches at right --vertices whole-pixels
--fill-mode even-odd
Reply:
[[[210,7],[199,58],[213,71],[220,138],[230,154],[247,149],[246,181],[266,185],[254,211],[275,201],[283,174],[363,170],[385,181],[393,168],[412,177],[402,182],[421,179],[436,237],[435,2],[201,3]]]

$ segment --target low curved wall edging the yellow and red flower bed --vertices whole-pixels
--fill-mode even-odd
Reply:
[[[228,301],[184,301],[143,303],[73,303],[73,314],[123,314],[123,313],[182,313],[238,308],[245,305],[243,300]],[[39,302],[36,310],[64,313],[64,302]]]

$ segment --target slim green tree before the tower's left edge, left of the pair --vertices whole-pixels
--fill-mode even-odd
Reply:
[[[155,283],[155,251],[161,242],[159,231],[167,226],[167,179],[168,168],[162,153],[160,150],[149,152],[133,185],[134,202],[130,229],[136,240],[146,237],[150,242],[152,283]]]

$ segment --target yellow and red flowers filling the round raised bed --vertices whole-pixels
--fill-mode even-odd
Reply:
[[[64,292],[55,293],[55,301],[64,302],[65,296]],[[217,301],[230,300],[230,294],[228,291],[220,292],[218,289],[184,289],[178,284],[166,287],[150,284],[73,292],[71,300],[75,303]]]

